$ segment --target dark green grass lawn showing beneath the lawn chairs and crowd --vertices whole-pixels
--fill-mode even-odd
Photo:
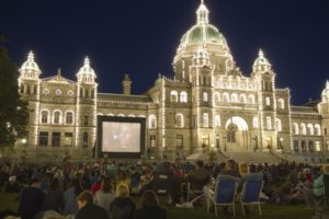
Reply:
[[[138,203],[138,198],[134,198]],[[161,198],[162,204],[166,199]],[[194,209],[179,209],[162,205],[167,209],[168,219],[215,219],[215,214],[207,214],[205,207],[198,206]],[[18,210],[18,195],[0,193],[0,211],[4,209]],[[237,205],[237,219],[242,218],[239,206]],[[217,218],[231,218],[229,215],[224,214],[222,209],[218,211]],[[305,205],[262,205],[262,216],[258,216],[256,209],[251,209],[246,219],[309,219],[311,211],[306,209]]]

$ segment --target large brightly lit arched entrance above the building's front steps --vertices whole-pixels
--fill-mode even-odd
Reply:
[[[248,124],[239,116],[230,117],[225,125],[226,150],[242,150],[248,149]]]

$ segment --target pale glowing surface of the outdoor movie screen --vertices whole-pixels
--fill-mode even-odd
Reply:
[[[103,152],[140,152],[140,124],[103,122]]]

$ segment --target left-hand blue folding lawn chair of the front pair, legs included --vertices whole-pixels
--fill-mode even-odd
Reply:
[[[236,217],[236,194],[238,182],[240,180],[232,176],[219,176],[216,183],[215,192],[208,198],[215,206],[215,215],[217,217],[217,206],[228,206]],[[208,200],[207,200],[208,201]]]

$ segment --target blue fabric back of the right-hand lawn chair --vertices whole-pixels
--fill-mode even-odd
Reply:
[[[241,193],[242,203],[258,203],[263,188],[263,181],[247,181]]]

